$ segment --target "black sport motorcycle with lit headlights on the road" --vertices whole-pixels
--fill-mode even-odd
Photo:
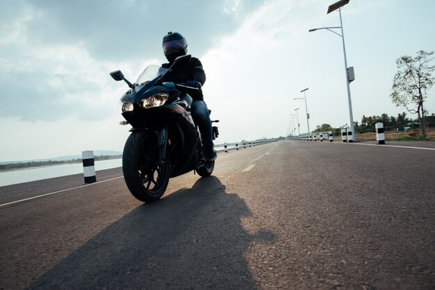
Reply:
[[[168,72],[186,65],[190,58],[179,56],[167,69],[150,65],[136,83],[124,78],[122,71],[110,73],[114,80],[129,85],[120,99],[125,119],[120,124],[132,126],[122,153],[122,171],[131,194],[145,203],[161,198],[170,178],[192,170],[207,177],[215,167],[215,161],[205,157],[201,135],[190,114],[192,97],[188,92],[197,88],[165,81]],[[215,139],[219,132],[217,126],[212,128]]]

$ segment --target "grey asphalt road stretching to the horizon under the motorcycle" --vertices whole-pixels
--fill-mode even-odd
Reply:
[[[0,187],[58,192],[0,205],[0,289],[435,289],[434,150],[265,144],[151,204],[97,181]]]

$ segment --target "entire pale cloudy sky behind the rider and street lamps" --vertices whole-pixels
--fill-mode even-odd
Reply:
[[[161,65],[177,31],[202,61],[215,144],[350,123],[334,0],[0,0],[0,162],[122,151],[125,83]],[[435,1],[350,0],[341,10],[354,121],[406,112],[390,98],[395,60],[435,50]],[[340,32],[340,31],[338,31]],[[435,88],[425,104],[435,112]],[[299,108],[299,109],[298,109]],[[296,111],[295,111],[296,110]],[[297,112],[297,116],[292,116]],[[412,115],[415,117],[415,115]]]

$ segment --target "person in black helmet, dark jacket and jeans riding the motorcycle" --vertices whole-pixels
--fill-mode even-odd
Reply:
[[[186,39],[177,32],[169,32],[163,37],[163,53],[167,61],[162,65],[168,68],[172,65],[175,58],[185,56],[188,52],[188,43]],[[192,106],[190,108],[193,120],[199,127],[199,132],[202,137],[202,146],[207,160],[215,160],[217,153],[213,146],[213,137],[211,129],[211,120],[201,87],[206,82],[206,74],[202,68],[202,64],[197,58],[191,58],[188,67],[177,69],[168,74],[167,80],[172,80],[174,83],[185,83],[189,87],[197,87],[199,90],[189,93],[192,96]]]

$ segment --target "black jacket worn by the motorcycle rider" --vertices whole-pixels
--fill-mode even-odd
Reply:
[[[172,64],[164,63],[162,65],[163,68],[167,69]],[[201,85],[204,85],[206,82],[206,73],[202,68],[202,63],[197,58],[190,58],[190,62],[188,65],[184,67],[177,67],[166,74],[165,81],[174,82],[174,83],[187,83],[189,80],[197,80]],[[204,96],[202,94],[202,90],[189,92],[192,99],[204,101]]]

